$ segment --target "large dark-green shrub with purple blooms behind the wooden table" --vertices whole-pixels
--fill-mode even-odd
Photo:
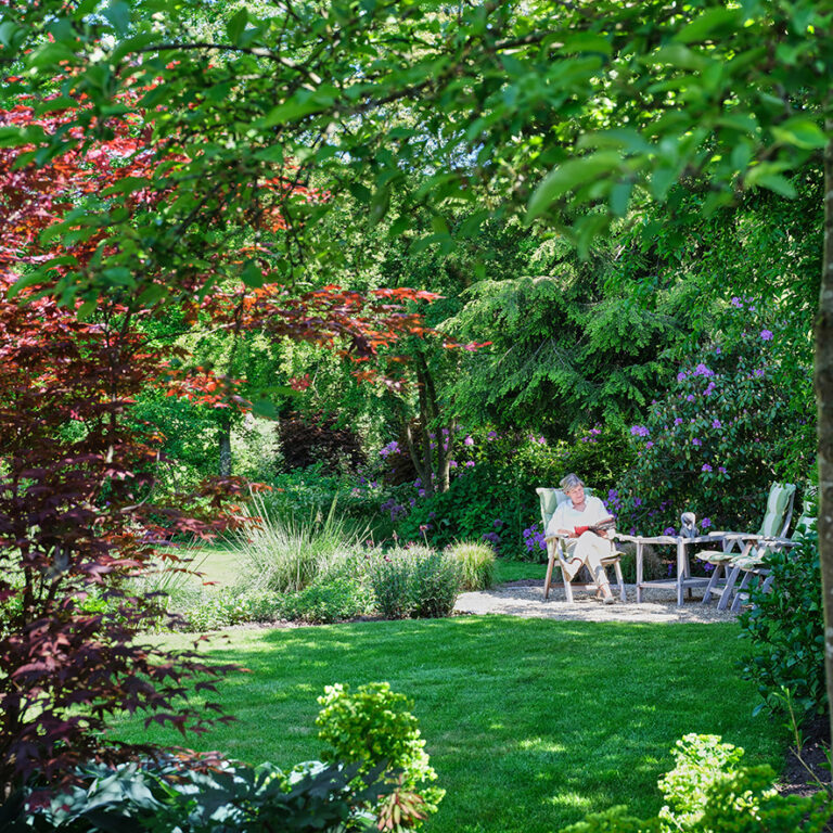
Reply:
[[[672,534],[680,513],[701,528],[747,528],[773,480],[805,480],[815,426],[800,333],[733,298],[725,341],[682,362],[669,390],[630,428],[632,469],[611,492],[623,531]]]

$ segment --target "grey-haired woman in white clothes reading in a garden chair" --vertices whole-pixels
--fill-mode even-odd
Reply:
[[[604,603],[613,604],[616,600],[602,566],[602,559],[611,555],[611,513],[599,498],[585,496],[585,484],[575,474],[568,474],[559,485],[567,500],[559,503],[547,525],[547,535],[563,535],[569,539],[565,541],[566,566],[562,566],[562,572],[568,574],[564,580],[572,581],[578,571],[587,566]]]

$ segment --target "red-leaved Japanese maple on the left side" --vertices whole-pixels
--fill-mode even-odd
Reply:
[[[61,129],[62,119],[38,119],[22,105],[0,112],[0,124],[24,125],[36,140],[38,131]],[[246,485],[213,478],[195,494],[168,496],[161,503],[154,485],[162,437],[129,418],[136,397],[153,386],[212,407],[246,403],[232,382],[200,369],[182,371],[184,355],[178,356],[175,372],[170,349],[163,355],[136,326],[156,310],[119,292],[117,281],[112,291],[99,293],[94,315],[80,318],[74,304],[61,306],[21,284],[43,262],[56,275],[72,270],[78,280],[103,268],[106,229],[60,245],[42,232],[86,196],[106,195],[126,176],[149,176],[159,164],[128,121],[113,119],[104,132],[108,139],[71,146],[53,159],[39,159],[26,148],[0,149],[3,790],[34,774],[59,782],[87,760],[154,754],[148,746],[106,739],[110,718],[121,710],[144,712],[149,721],[183,733],[228,719],[216,705],[197,712],[188,695],[213,689],[230,667],[209,667],[196,651],[172,655],[148,644],[142,635],[164,615],[164,600],[137,592],[132,579],[153,564],[176,560],[172,539],[239,526]],[[166,198],[164,188],[110,193],[127,223],[132,212],[146,212]],[[142,287],[146,291],[153,280],[153,273],[142,273]],[[170,285],[170,277],[165,280]],[[179,284],[185,293],[188,280],[184,275]],[[343,346],[363,360],[400,333],[420,333],[420,318],[402,311],[401,302],[430,297],[408,290],[364,297],[338,287],[292,297],[266,286],[216,292],[202,307],[216,326],[232,332],[258,330]]]

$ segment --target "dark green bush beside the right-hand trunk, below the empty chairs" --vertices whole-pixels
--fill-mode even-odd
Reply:
[[[794,549],[771,552],[770,592],[753,590],[755,605],[741,617],[749,650],[744,677],[754,680],[770,712],[784,712],[784,691],[797,721],[825,712],[824,616],[819,536],[810,529]]]

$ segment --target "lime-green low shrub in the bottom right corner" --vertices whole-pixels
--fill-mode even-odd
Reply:
[[[718,736],[687,734],[674,755],[658,782],[666,803],[656,818],[616,807],[562,833],[822,833],[833,816],[825,792],[780,795],[771,767],[741,766],[743,749]]]

